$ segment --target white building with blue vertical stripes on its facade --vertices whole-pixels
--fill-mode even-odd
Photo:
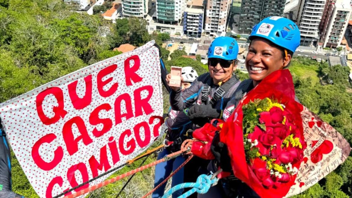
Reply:
[[[187,8],[183,14],[183,33],[187,36],[200,38],[204,21],[203,0],[191,0],[187,2]]]

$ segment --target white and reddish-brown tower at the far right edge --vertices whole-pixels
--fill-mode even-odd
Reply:
[[[352,8],[345,0],[331,0],[325,7],[324,20],[321,20],[321,42],[323,47],[339,47],[347,29]]]

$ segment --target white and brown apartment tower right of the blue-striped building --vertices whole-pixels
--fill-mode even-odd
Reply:
[[[205,20],[205,32],[207,35],[225,35],[230,4],[230,0],[208,0]]]

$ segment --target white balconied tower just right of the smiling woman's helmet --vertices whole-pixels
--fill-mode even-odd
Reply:
[[[305,0],[298,4],[297,24],[301,32],[301,45],[316,46],[319,41],[319,24],[326,0]]]

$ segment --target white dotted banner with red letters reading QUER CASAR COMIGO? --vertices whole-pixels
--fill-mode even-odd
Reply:
[[[1,104],[12,149],[40,197],[54,197],[122,165],[159,136],[163,96],[153,44]]]

